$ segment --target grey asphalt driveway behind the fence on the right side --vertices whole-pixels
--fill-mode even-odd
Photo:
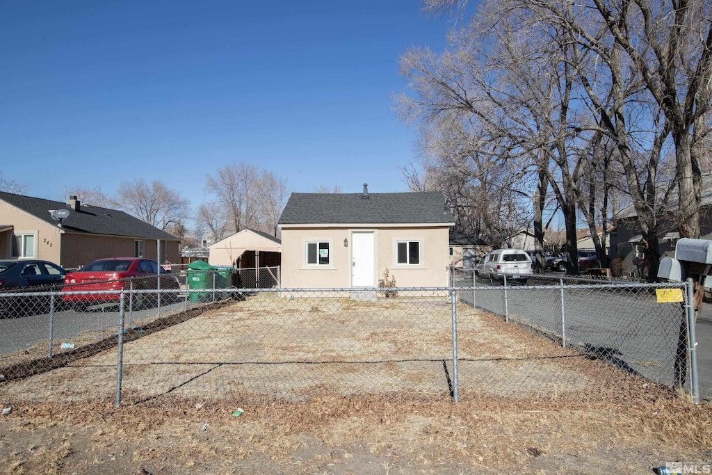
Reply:
[[[623,370],[661,384],[674,381],[683,316],[679,303],[657,303],[654,294],[633,289],[565,289],[562,295],[559,288],[531,288],[541,284],[531,280],[526,286],[512,286],[505,300],[501,284],[487,279],[477,281],[478,289],[461,292],[459,298],[550,335],[565,333],[567,342],[602,353]],[[456,285],[473,283],[470,277]],[[700,400],[712,400],[712,303],[703,303],[695,330]]]

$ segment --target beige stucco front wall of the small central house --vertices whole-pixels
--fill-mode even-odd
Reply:
[[[447,286],[449,226],[282,228],[282,288],[350,288],[352,233],[372,231],[375,247],[374,283],[386,268],[399,287]],[[344,246],[347,239],[348,246]],[[420,263],[399,265],[397,241],[419,241]],[[306,266],[306,242],[330,241],[329,266]]]

